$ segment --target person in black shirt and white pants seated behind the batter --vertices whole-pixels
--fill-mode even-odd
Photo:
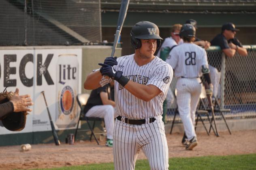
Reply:
[[[110,84],[114,86],[114,83]],[[104,118],[107,141],[106,146],[113,146],[113,131],[114,131],[114,112],[115,102],[111,100],[108,93],[109,85],[99,87],[92,90],[90,97],[84,107],[84,113],[87,117]]]

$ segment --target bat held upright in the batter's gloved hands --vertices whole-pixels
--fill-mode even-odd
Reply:
[[[130,0],[122,0],[122,2],[121,2],[119,15],[118,15],[118,19],[117,19],[117,27],[116,27],[116,31],[115,31],[115,39],[114,39],[114,44],[113,44],[113,48],[112,48],[112,52],[111,52],[111,57],[114,57],[114,55],[115,55],[115,49],[117,47],[117,42],[119,40],[120,33],[121,33],[122,27],[124,25],[124,20],[125,20],[126,14],[127,14],[129,1]]]

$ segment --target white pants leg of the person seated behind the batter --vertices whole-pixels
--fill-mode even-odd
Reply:
[[[104,118],[107,139],[113,139],[114,130],[114,107],[111,105],[97,105],[87,111],[87,117]]]

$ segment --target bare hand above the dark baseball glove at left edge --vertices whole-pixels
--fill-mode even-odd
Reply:
[[[14,95],[13,97],[11,97],[10,101],[13,103],[14,112],[32,111],[29,106],[32,106],[34,104],[29,94],[19,96],[18,88],[16,88]]]

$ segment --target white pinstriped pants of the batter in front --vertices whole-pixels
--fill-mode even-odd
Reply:
[[[168,147],[161,116],[143,125],[115,120],[113,146],[115,170],[134,170],[140,150],[149,160],[151,170],[168,170]]]

